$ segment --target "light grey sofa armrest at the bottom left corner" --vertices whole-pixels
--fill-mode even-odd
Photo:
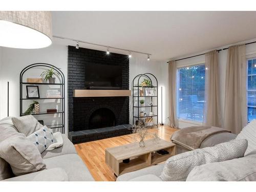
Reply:
[[[51,168],[2,181],[69,181],[69,179],[64,169]]]

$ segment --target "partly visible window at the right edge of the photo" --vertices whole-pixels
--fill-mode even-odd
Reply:
[[[256,119],[256,58],[247,60],[247,117],[250,122]]]

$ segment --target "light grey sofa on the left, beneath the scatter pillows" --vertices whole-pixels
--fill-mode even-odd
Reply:
[[[13,126],[11,121],[0,121],[1,126]],[[73,143],[62,134],[63,145],[41,154],[46,164],[45,170],[12,177],[2,181],[94,181],[87,166],[77,155]],[[9,172],[11,168],[9,167]]]

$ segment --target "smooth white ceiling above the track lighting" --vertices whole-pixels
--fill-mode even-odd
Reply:
[[[155,60],[177,58],[256,37],[255,11],[55,11],[52,17],[54,35],[151,53]],[[74,45],[72,41],[54,41]]]

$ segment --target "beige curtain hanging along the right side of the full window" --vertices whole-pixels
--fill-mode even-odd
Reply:
[[[204,125],[222,127],[218,53],[211,51],[205,54],[205,105]]]

